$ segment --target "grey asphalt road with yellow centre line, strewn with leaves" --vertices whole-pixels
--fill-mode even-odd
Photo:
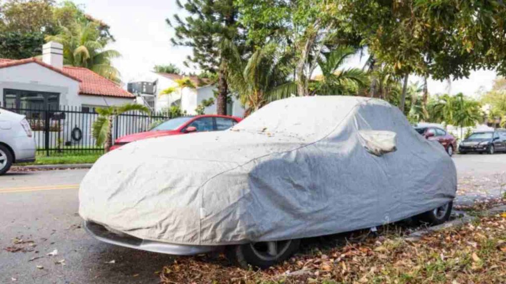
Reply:
[[[457,155],[454,161],[459,181],[506,173],[506,154]],[[81,227],[77,188],[86,172],[0,176],[0,283],[158,282],[156,272],[172,257],[103,244]],[[54,250],[57,255],[47,255]]]

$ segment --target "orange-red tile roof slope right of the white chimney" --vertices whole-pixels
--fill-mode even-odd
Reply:
[[[63,71],[81,80],[81,83],[79,84],[80,94],[117,98],[135,98],[132,93],[124,90],[113,81],[100,76],[90,69],[64,66]]]

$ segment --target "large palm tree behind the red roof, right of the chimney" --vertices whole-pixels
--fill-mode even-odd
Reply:
[[[93,72],[119,82],[119,71],[112,60],[121,55],[115,50],[106,50],[107,41],[100,38],[100,30],[94,22],[77,22],[71,28],[61,27],[61,33],[49,35],[47,41],[63,44],[63,64],[85,67]]]

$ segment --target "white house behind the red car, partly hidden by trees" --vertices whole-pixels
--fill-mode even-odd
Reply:
[[[181,91],[177,88],[175,80],[188,77],[195,86],[192,88],[183,88]],[[129,83],[129,90],[138,96],[138,102],[144,103],[155,111],[163,111],[172,105],[179,105],[181,100],[181,109],[187,114],[196,114],[196,108],[204,100],[213,98],[215,103],[204,109],[205,114],[216,114],[216,99],[214,91],[217,89],[214,84],[206,84],[196,76],[183,76],[179,74],[149,72],[139,76],[140,79]],[[175,87],[176,90],[169,95],[160,93],[168,88]],[[232,96],[231,102],[227,105],[227,114],[233,116],[244,116],[244,108],[240,102]]]

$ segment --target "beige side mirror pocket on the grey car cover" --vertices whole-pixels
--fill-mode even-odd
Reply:
[[[378,157],[397,151],[396,136],[397,134],[392,131],[358,131],[358,137],[362,146],[367,150],[367,152]]]

